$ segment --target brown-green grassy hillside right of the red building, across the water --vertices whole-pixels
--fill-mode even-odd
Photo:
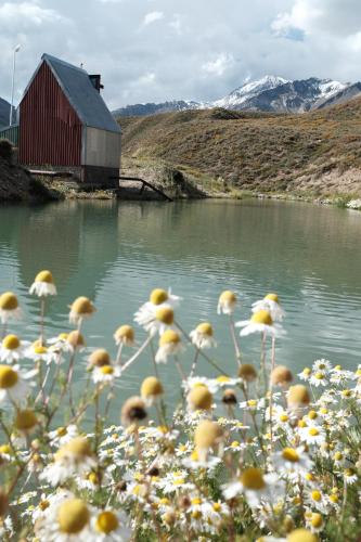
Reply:
[[[125,156],[224,188],[361,194],[361,99],[304,115],[224,109],[120,118]]]

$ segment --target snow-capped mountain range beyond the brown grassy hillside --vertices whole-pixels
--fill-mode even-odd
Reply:
[[[332,79],[288,80],[268,75],[247,81],[227,96],[215,102],[172,101],[128,105],[114,112],[115,116],[153,115],[172,111],[224,107],[236,111],[263,111],[274,113],[304,113],[334,105],[361,93],[361,83],[344,83]]]

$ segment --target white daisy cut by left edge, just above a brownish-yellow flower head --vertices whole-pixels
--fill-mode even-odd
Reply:
[[[18,365],[0,365],[0,403],[13,402],[18,405],[26,403],[29,395],[28,380],[37,371],[23,373]]]

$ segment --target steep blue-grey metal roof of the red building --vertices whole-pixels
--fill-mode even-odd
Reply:
[[[85,69],[46,53],[41,56],[41,61],[46,62],[52,70],[60,87],[83,125],[111,132],[120,132],[119,126],[98,90],[91,83],[89,75]],[[39,67],[41,64],[42,62]],[[34,74],[27,89],[38,69]]]

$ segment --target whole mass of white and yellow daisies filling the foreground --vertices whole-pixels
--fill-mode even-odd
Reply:
[[[276,294],[249,309],[233,292],[215,299],[229,321],[232,374],[217,330],[183,330],[177,307],[186,300],[170,291],[154,289],[129,322],[114,323],[113,352],[90,353],[91,300],[74,300],[74,331],[51,337],[50,271],[29,295],[39,298],[33,343],[16,335],[16,293],[0,295],[0,540],[360,540],[361,365],[321,359],[298,375],[278,365],[287,320]],[[250,334],[260,345],[253,364],[242,353]],[[149,376],[109,426],[117,385],[144,353]],[[212,377],[198,374],[201,359]],[[179,372],[172,410],[159,363]],[[74,392],[79,364],[87,378]]]

